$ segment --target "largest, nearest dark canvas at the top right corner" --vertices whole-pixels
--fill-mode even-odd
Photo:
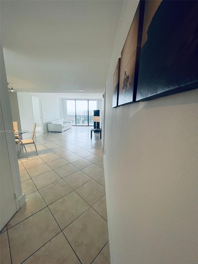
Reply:
[[[136,101],[198,88],[198,1],[145,2]]]

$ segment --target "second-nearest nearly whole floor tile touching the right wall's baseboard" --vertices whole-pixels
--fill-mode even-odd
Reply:
[[[105,195],[105,187],[91,180],[75,190],[90,206]]]

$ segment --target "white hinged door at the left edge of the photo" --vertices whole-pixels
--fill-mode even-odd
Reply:
[[[1,107],[1,104],[0,104]],[[12,218],[16,213],[16,200],[15,191],[12,181],[10,160],[7,149],[5,126],[1,110],[1,133],[0,133],[0,230],[6,225],[6,223]]]

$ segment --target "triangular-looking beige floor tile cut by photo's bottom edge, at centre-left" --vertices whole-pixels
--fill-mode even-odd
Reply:
[[[80,262],[61,232],[23,263],[78,264]]]

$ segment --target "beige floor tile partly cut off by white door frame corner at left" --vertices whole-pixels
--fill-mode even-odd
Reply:
[[[46,207],[45,201],[41,197],[39,191],[35,191],[26,195],[25,200],[26,203],[24,204],[24,206],[22,206],[19,211],[17,211],[16,214],[7,223],[7,228],[18,224],[24,219],[30,217],[32,214],[35,214]]]

